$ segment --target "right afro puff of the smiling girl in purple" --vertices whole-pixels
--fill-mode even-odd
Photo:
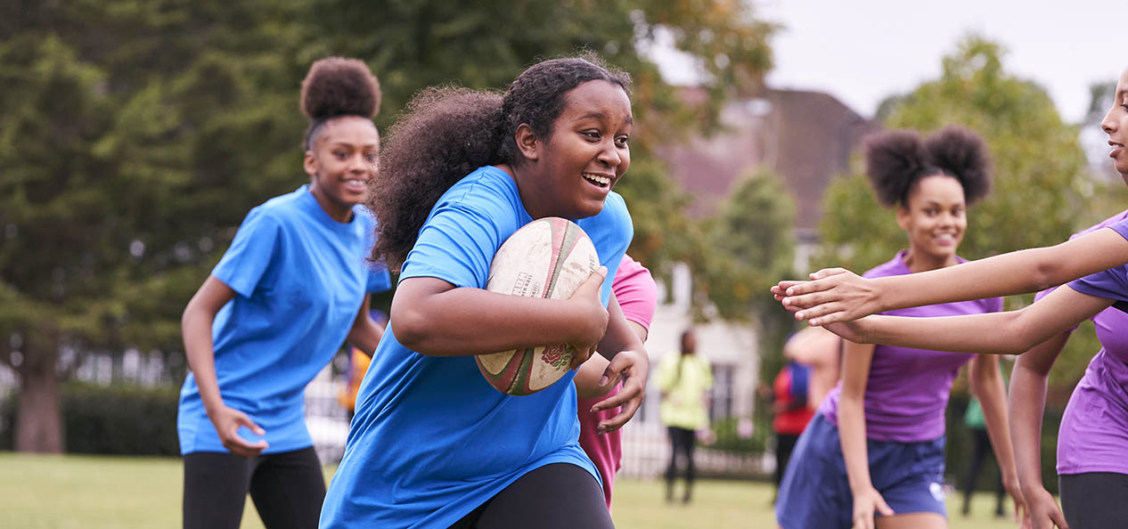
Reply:
[[[975,132],[949,125],[925,140],[932,164],[954,176],[963,186],[963,197],[972,204],[990,192],[992,168],[987,146]]]

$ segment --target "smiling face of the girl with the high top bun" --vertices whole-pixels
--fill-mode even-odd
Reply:
[[[329,120],[306,151],[309,191],[329,217],[346,222],[352,206],[368,197],[376,176],[380,134],[370,120],[341,116]]]

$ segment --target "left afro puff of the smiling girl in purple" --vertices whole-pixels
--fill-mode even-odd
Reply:
[[[865,141],[865,174],[887,208],[900,204],[927,167],[928,151],[915,131],[881,132]]]

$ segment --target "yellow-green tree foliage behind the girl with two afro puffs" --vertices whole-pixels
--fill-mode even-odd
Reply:
[[[971,259],[1056,245],[1116,212],[1079,220],[1078,211],[1089,209],[1100,182],[1086,166],[1077,127],[1063,122],[1041,87],[1008,73],[1003,55],[999,45],[968,37],[944,58],[938,79],[890,97],[879,109],[889,129],[929,133],[959,124],[987,141],[994,189],[968,212],[960,255]],[[880,206],[861,174],[837,179],[823,204],[821,252],[814,267],[840,265],[862,272],[907,245],[892,212],[874,214]],[[1031,300],[1031,296],[1010,298],[1007,307],[1020,308]],[[1076,382],[1099,349],[1092,333],[1077,333],[1058,360],[1054,382]]]

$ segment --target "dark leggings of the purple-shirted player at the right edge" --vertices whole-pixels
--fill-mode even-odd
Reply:
[[[1128,474],[1064,474],[1058,476],[1058,491],[1069,529],[1128,524]]]

